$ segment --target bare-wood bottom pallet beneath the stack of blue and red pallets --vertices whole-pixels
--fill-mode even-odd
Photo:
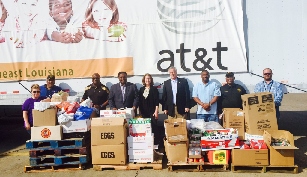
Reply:
[[[44,166],[44,167],[33,167],[30,165],[26,165],[24,167],[24,171],[29,172],[54,172],[54,171],[78,171],[83,170],[84,166],[82,164],[74,164],[74,165],[52,165],[52,166]]]

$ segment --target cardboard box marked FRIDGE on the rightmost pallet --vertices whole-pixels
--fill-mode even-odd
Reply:
[[[232,149],[231,160],[234,165],[269,165],[268,149]]]

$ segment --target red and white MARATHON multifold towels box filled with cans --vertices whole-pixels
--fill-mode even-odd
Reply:
[[[208,133],[210,133],[211,131],[214,130],[206,130],[206,132]],[[217,131],[229,132],[229,129],[219,129]],[[209,135],[206,137],[201,137],[200,140],[202,151],[240,148],[238,130],[235,130],[235,133],[230,135],[220,135],[212,137]]]

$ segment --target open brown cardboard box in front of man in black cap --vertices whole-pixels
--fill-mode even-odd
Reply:
[[[244,139],[244,113],[240,108],[224,108],[223,127],[224,129],[237,129],[239,140]]]

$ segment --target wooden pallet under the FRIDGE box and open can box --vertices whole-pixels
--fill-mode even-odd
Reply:
[[[241,173],[298,173],[298,166],[247,166],[231,164],[231,171]]]

